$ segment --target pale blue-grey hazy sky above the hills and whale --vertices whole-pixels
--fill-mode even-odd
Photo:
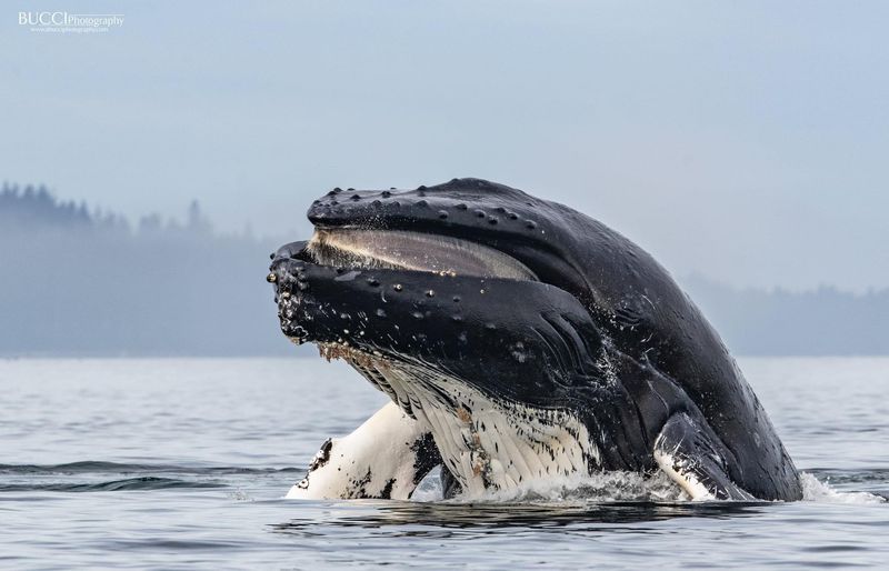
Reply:
[[[18,10],[116,12],[31,32]],[[483,177],[676,274],[889,287],[886,2],[20,2],[0,179],[304,233],[333,186]]]

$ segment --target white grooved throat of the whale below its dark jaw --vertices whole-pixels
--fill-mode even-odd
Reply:
[[[486,395],[460,379],[391,360],[346,360],[431,432],[463,497],[600,469],[587,427],[560,409]]]

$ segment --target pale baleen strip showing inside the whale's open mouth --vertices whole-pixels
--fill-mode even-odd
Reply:
[[[443,234],[318,228],[306,253],[320,266],[539,281],[531,269],[500,250]]]

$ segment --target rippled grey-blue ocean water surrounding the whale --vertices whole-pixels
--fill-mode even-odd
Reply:
[[[0,567],[889,565],[889,359],[740,359],[806,500],[626,474],[516,497],[284,500],[386,402],[320,359],[0,360]],[[667,487],[669,488],[669,487]]]

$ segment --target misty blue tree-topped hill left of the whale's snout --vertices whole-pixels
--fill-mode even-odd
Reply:
[[[193,201],[133,228],[4,184],[0,355],[292,354],[264,280],[283,240],[213,232]]]

